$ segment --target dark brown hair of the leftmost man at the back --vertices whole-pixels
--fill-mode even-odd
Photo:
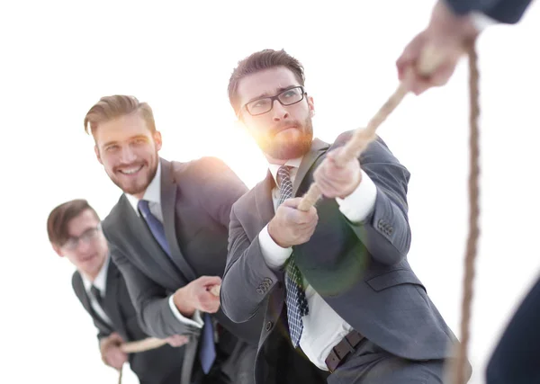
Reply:
[[[49,219],[47,219],[49,242],[56,246],[63,246],[69,238],[67,224],[71,219],[75,219],[85,210],[92,210],[95,218],[99,220],[97,212],[84,199],[67,201],[58,205],[54,210],[51,210]]]

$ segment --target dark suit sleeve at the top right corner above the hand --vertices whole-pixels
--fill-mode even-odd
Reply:
[[[499,22],[514,24],[521,20],[531,0],[445,0],[457,14],[484,13]]]

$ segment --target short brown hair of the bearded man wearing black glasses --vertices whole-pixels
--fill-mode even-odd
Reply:
[[[245,76],[271,67],[288,68],[293,72],[298,83],[302,86],[304,85],[305,77],[302,64],[296,58],[293,58],[285,52],[284,49],[263,49],[252,53],[247,58],[238,61],[238,67],[232,71],[232,75],[229,79],[229,102],[236,114],[238,114],[240,109],[240,106],[238,105],[238,83],[240,80]]]

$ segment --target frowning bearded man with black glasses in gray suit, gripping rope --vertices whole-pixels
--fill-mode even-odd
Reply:
[[[351,132],[313,139],[303,67],[283,50],[240,61],[229,99],[268,161],[232,207],[221,286],[232,320],[265,314],[257,383],[287,346],[330,384],[442,382],[456,340],[407,261],[409,171],[382,138],[338,165]],[[325,197],[298,210],[313,182]]]

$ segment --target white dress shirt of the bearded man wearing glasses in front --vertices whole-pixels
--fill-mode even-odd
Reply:
[[[293,166],[291,169],[291,182],[298,171],[302,162],[301,158],[287,161],[285,165]],[[277,170],[281,165],[269,165],[271,174],[276,179]],[[345,199],[337,198],[339,210],[347,219],[352,222],[362,222],[374,210],[375,199],[377,197],[377,188],[374,182],[362,170],[362,182],[358,185],[355,192],[351,193]],[[277,185],[277,181],[276,181]],[[275,210],[279,200],[279,188],[276,186],[272,191]],[[268,234],[268,226],[261,230],[258,235],[261,252],[265,258],[266,264],[273,269],[278,269],[284,265],[289,256],[293,253],[293,248],[283,248],[278,246]],[[327,302],[311,287],[308,281],[305,281],[305,294],[310,308],[308,315],[302,317],[303,330],[300,338],[300,347],[308,356],[311,362],[317,365],[321,370],[328,371],[325,360],[329,356],[334,345],[347,335],[353,328],[347,321],[341,318]]]

